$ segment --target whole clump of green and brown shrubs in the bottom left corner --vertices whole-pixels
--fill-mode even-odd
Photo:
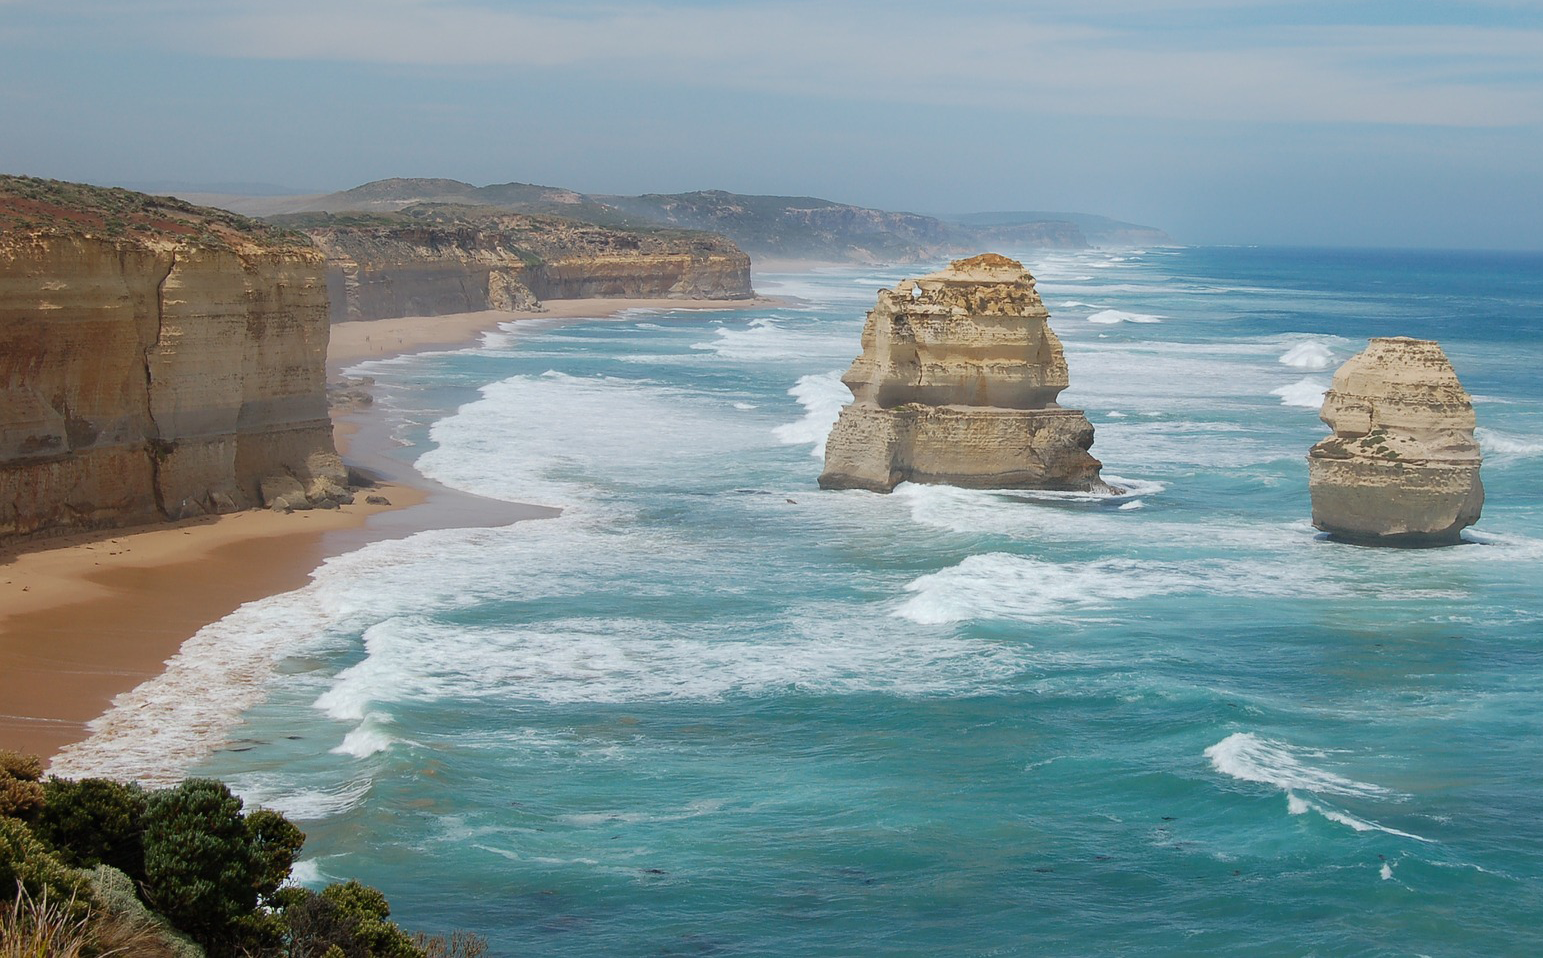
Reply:
[[[386,896],[356,881],[321,892],[285,887],[306,835],[278,811],[244,813],[222,782],[145,791],[40,778],[37,759],[0,753],[0,896],[15,895],[9,904],[0,898],[0,958],[478,958],[488,950],[464,932],[409,936],[390,921]],[[12,943],[26,950],[6,950]]]

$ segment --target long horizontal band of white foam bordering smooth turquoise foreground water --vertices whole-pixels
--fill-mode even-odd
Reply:
[[[929,696],[981,690],[1017,674],[1026,648],[906,634],[809,616],[776,637],[742,625],[585,617],[531,628],[432,626],[370,649],[369,668],[338,676],[338,699],[475,703],[711,702],[821,694]]]

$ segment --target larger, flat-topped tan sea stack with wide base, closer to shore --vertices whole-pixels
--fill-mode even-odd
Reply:
[[[995,253],[880,290],[821,487],[1106,491],[1092,424],[1055,404],[1068,373],[1048,321],[1034,278]]]

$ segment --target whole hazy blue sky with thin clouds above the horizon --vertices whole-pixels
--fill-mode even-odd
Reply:
[[[0,0],[0,170],[1543,248],[1543,0]]]

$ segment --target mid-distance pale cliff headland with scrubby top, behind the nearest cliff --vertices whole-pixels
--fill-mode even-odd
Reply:
[[[747,299],[750,258],[721,236],[555,216],[409,207],[292,218],[327,256],[332,319],[531,309],[540,299]]]

